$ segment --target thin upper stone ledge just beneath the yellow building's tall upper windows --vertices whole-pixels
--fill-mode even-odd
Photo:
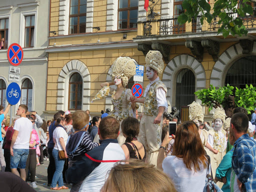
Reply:
[[[133,32],[137,31],[137,29],[129,29],[129,30],[114,30],[114,31],[104,31],[104,32],[87,32],[82,34],[68,34],[68,35],[59,35],[59,36],[49,36],[49,39],[52,38],[68,38],[68,37],[76,37],[76,36],[93,36],[93,35],[101,35],[101,34],[113,34],[113,33],[125,33],[125,32]]]

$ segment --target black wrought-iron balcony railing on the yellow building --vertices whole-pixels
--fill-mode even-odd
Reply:
[[[236,14],[232,14],[232,16],[235,18]],[[178,24],[177,17],[138,21],[138,36],[217,32],[220,27],[218,24],[218,17],[214,18],[210,24],[204,21],[202,25],[200,23],[200,18],[201,16],[197,16],[196,19],[192,19],[192,22],[186,22],[183,25]],[[246,29],[256,28],[256,12],[254,12],[253,15],[246,15],[240,18]]]

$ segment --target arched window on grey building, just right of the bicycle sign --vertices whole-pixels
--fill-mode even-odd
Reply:
[[[21,104],[27,105],[28,111],[32,110],[33,85],[29,78],[25,78],[21,85]]]

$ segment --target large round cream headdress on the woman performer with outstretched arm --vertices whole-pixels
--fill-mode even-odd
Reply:
[[[124,87],[128,84],[130,77],[136,74],[135,60],[128,56],[116,58],[111,68],[113,70],[112,80],[115,76],[120,76]]]

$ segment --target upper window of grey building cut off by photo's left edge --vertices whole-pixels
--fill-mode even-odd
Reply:
[[[0,49],[8,46],[9,18],[0,19]]]

